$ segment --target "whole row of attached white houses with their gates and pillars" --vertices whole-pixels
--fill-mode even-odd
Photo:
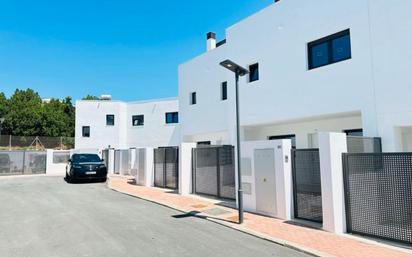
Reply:
[[[177,99],[78,101],[76,148],[116,149],[105,150],[113,162],[121,152],[111,151],[132,149],[139,184],[238,200],[235,78],[220,65],[229,59],[249,71],[239,81],[245,208],[412,243],[411,9],[275,1],[220,40],[208,33],[206,51],[179,66]]]

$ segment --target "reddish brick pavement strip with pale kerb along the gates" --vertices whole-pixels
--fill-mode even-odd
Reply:
[[[181,196],[168,190],[135,185],[132,178],[114,176],[111,189],[248,233],[314,256],[339,257],[412,257],[412,250],[385,245],[350,235],[335,235],[320,229],[291,224],[284,220],[245,213],[245,222],[237,224],[237,210],[218,201],[197,196]]]

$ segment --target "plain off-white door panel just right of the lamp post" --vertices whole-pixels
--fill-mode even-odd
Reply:
[[[254,157],[256,211],[276,216],[275,150],[257,149]]]

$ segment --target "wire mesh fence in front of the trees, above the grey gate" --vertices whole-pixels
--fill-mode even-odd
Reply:
[[[42,136],[12,136],[0,135],[0,149],[60,149],[74,148],[73,137],[42,137]]]

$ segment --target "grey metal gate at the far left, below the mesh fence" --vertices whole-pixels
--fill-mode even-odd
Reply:
[[[0,151],[0,176],[46,173],[45,151]]]

